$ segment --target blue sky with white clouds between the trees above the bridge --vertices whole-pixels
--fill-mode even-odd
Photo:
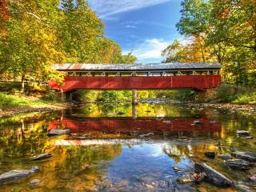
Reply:
[[[180,0],[89,0],[106,25],[106,37],[124,54],[132,51],[137,63],[162,62],[161,51],[175,38],[181,14]]]

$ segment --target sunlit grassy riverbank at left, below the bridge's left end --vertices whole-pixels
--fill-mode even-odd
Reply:
[[[73,105],[73,103],[46,101],[34,96],[0,93],[0,117],[14,114],[65,110]]]

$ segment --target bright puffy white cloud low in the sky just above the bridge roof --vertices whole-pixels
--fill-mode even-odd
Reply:
[[[134,47],[132,52],[138,58],[138,62],[161,62],[163,60],[161,55],[162,50],[166,49],[169,45],[170,42],[161,38],[150,38]],[[124,51],[124,54],[127,54],[128,52],[129,51]]]

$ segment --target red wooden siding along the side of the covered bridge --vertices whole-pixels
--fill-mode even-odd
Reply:
[[[156,77],[66,77],[63,86],[49,82],[54,89],[70,90],[206,90],[221,84],[220,75],[179,75]]]

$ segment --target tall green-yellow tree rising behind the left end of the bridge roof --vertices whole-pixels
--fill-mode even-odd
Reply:
[[[58,23],[58,46],[72,62],[94,62],[98,38],[104,36],[104,25],[88,4],[71,0],[62,1]]]

